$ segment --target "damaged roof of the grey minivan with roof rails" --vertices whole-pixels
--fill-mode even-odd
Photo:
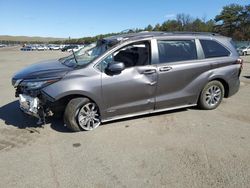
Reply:
[[[129,39],[137,40],[137,39],[144,39],[144,38],[152,38],[152,37],[159,37],[159,36],[221,36],[217,33],[209,33],[209,32],[139,32],[139,33],[128,33],[128,34],[121,34],[121,35],[114,35],[111,37],[107,37],[105,41],[126,41]]]

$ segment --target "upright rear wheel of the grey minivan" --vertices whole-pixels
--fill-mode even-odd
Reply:
[[[224,93],[225,89],[221,82],[217,80],[211,81],[203,88],[198,106],[203,110],[213,110],[220,105]]]

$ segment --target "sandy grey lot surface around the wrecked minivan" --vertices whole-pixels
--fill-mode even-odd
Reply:
[[[240,91],[213,111],[196,108],[71,133],[18,109],[11,76],[61,52],[0,50],[0,187],[249,187],[250,63]],[[244,57],[250,62],[250,56]]]

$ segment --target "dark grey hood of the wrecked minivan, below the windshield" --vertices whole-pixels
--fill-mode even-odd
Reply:
[[[58,60],[50,60],[36,63],[17,72],[12,80],[32,80],[46,79],[53,77],[63,77],[67,72],[73,70],[71,67],[63,65]]]

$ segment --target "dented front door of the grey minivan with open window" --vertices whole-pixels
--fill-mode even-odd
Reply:
[[[110,63],[122,62],[125,70],[106,73]],[[133,116],[154,109],[157,72],[151,65],[150,42],[132,43],[105,58],[102,66],[102,95],[105,120]]]

